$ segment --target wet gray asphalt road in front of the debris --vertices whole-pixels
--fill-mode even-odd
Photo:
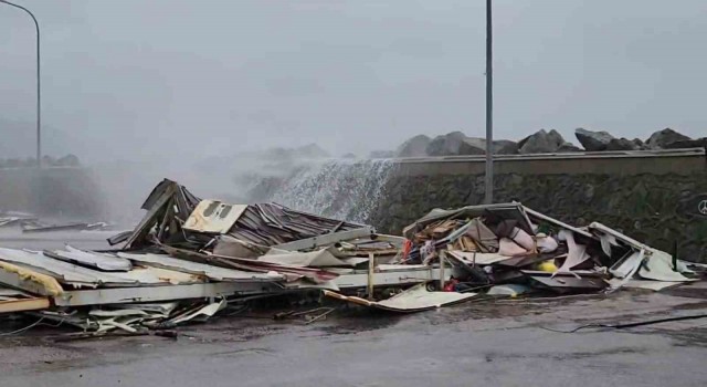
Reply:
[[[404,316],[342,308],[310,325],[246,312],[182,327],[177,339],[56,343],[56,330],[38,327],[0,337],[0,386],[705,386],[707,318],[547,330],[699,313],[707,283]]]

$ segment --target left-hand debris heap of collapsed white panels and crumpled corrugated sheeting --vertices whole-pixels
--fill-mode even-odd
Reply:
[[[369,261],[394,261],[403,238],[275,203],[201,200],[171,180],[143,208],[134,230],[108,239],[116,250],[0,249],[0,313],[137,332],[203,321],[244,297],[409,286],[439,272],[383,264],[373,273]]]

